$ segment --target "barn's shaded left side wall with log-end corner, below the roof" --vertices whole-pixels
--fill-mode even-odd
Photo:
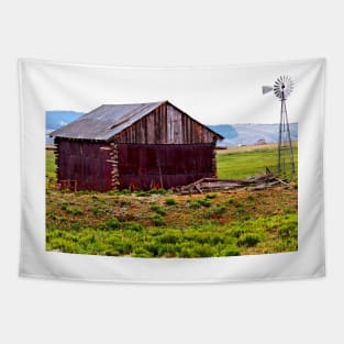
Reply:
[[[57,140],[57,179],[77,180],[78,190],[114,188],[113,146],[108,143]]]

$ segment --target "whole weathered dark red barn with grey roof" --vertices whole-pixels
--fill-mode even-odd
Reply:
[[[98,191],[214,177],[214,147],[223,138],[168,101],[101,106],[51,136],[58,181]]]

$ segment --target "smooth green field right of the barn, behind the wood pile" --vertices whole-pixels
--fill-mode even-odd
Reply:
[[[293,147],[296,168],[298,166],[298,147]],[[277,148],[264,148],[251,152],[220,153],[218,159],[218,177],[243,179],[265,173],[268,167],[276,170]]]

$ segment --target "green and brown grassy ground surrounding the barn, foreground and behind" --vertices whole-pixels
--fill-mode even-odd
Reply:
[[[240,151],[240,149],[238,149]],[[218,154],[223,178],[274,166],[276,147]],[[46,249],[133,257],[211,257],[296,251],[297,186],[176,196],[54,189],[46,153]]]

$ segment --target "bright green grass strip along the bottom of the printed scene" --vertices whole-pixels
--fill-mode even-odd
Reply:
[[[296,251],[296,214],[186,229],[147,228],[110,221],[103,228],[65,231],[48,228],[46,248],[65,253],[134,257],[220,257]],[[290,233],[289,233],[290,232]],[[286,233],[289,233],[286,236]]]

